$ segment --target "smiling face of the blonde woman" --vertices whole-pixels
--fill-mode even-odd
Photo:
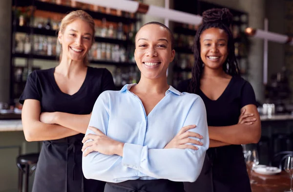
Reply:
[[[62,44],[63,57],[83,61],[93,42],[93,30],[86,21],[76,19],[63,33],[59,32],[58,40]]]

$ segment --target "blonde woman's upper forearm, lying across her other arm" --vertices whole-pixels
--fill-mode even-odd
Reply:
[[[55,124],[65,128],[70,128],[80,133],[84,133],[87,129],[91,114],[77,115],[70,113],[57,112]]]

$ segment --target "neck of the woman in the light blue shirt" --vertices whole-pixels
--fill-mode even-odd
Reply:
[[[167,77],[147,79],[143,75],[139,83],[135,86],[135,90],[143,94],[165,94],[168,88]]]

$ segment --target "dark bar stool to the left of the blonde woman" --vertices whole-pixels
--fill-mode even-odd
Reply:
[[[17,167],[19,168],[19,192],[22,192],[23,174],[24,174],[24,192],[28,192],[29,176],[37,168],[39,153],[29,153],[19,155],[16,159]],[[32,167],[30,167],[32,166]]]

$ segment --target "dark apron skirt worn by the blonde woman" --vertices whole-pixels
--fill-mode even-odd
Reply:
[[[105,182],[84,178],[83,137],[43,142],[32,192],[104,192]]]

